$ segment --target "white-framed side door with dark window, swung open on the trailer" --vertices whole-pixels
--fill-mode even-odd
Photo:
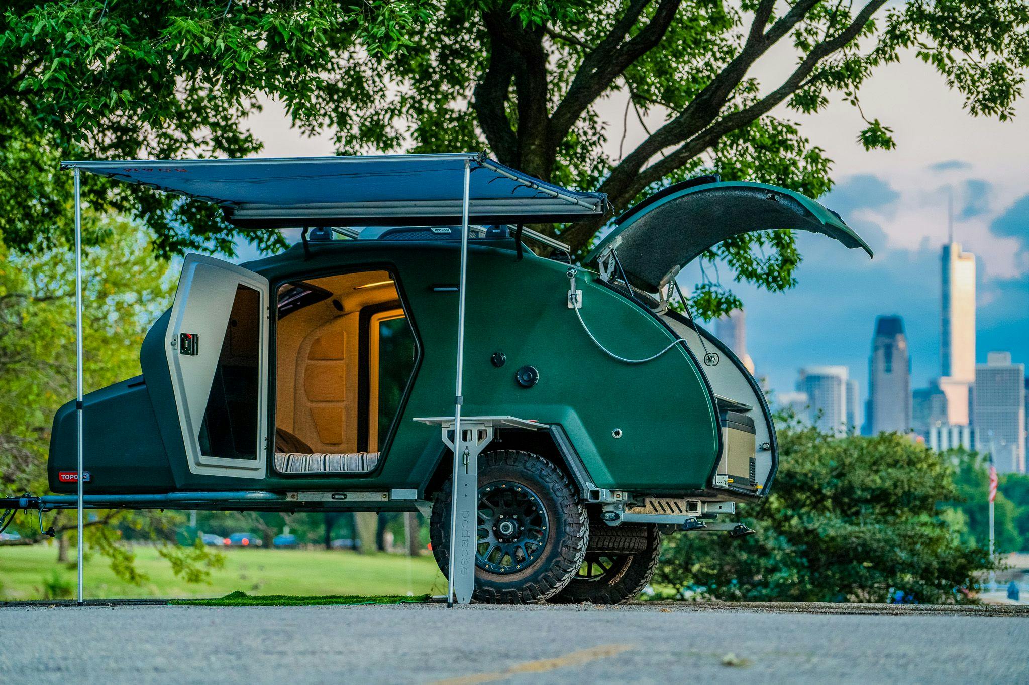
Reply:
[[[259,479],[268,455],[269,282],[187,255],[168,324],[168,369],[189,470]]]

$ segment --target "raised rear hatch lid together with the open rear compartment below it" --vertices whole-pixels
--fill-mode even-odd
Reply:
[[[839,215],[810,197],[777,186],[707,176],[669,186],[626,212],[587,261],[598,262],[602,277],[610,282],[625,278],[633,289],[665,303],[666,287],[707,250],[743,233],[783,229],[821,233],[872,256]],[[708,331],[674,310],[653,309],[663,312],[662,320],[701,360],[713,392],[721,453],[711,486],[731,491],[731,496],[767,494],[778,455],[775,426],[759,385]]]

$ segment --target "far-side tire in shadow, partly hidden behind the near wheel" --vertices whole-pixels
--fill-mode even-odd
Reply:
[[[622,524],[607,526],[591,521],[590,546],[581,567],[564,588],[548,601],[559,604],[622,604],[636,599],[650,582],[661,557],[661,532],[657,526]],[[587,563],[608,560],[608,570],[588,577]],[[597,567],[591,567],[597,568]]]

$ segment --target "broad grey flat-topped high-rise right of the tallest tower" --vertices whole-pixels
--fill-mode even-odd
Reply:
[[[975,447],[1001,473],[1026,470],[1026,368],[1010,352],[990,352],[975,367]]]

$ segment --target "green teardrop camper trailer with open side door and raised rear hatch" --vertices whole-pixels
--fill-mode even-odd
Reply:
[[[229,194],[152,180],[177,163],[183,177],[193,168],[122,162],[107,175],[214,201]],[[867,245],[804,195],[705,177],[631,208],[576,266],[519,224],[580,218],[554,208],[569,198],[596,216],[602,197],[484,156],[470,166],[485,166],[491,197],[508,204],[477,210],[489,198],[471,175],[466,280],[461,217],[453,203],[431,210],[411,179],[348,179],[364,202],[356,208],[222,202],[240,226],[340,228],[242,266],[185,258],[174,304],[143,342],[142,375],[84,396],[85,506],[419,510],[452,581],[462,573],[452,544],[473,560],[483,602],[626,601],[649,580],[662,531],[752,532],[725,519],[774,482],[769,407],[732,350],[668,307],[674,277],[748,231],[815,231],[871,255]],[[504,181],[528,204],[504,200]],[[390,183],[421,199],[367,208]],[[525,244],[537,239],[557,257]],[[77,487],[76,413],[69,403],[54,421],[59,495],[23,505],[74,501],[62,495]]]

